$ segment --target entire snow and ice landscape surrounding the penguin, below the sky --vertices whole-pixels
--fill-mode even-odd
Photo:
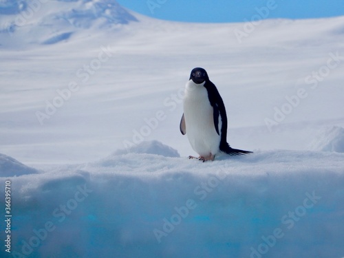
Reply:
[[[1,257],[343,257],[344,17],[176,23],[110,0],[0,14]],[[253,154],[187,158],[193,67]]]

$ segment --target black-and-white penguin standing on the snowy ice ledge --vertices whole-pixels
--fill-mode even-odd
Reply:
[[[183,109],[180,132],[186,134],[191,147],[200,155],[198,160],[214,160],[219,152],[228,155],[252,153],[233,149],[228,144],[224,101],[216,86],[209,80],[206,70],[201,67],[191,71],[185,87]]]

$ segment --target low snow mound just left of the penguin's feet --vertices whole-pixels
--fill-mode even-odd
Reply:
[[[129,149],[120,149],[115,151],[114,155],[123,155],[127,153],[162,155],[170,158],[180,157],[177,150],[159,142],[158,140],[144,141],[136,146],[130,147]]]

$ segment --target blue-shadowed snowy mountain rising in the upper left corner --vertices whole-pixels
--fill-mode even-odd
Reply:
[[[0,3],[3,46],[53,44],[77,36],[80,29],[116,30],[137,22],[115,0],[21,0]]]

